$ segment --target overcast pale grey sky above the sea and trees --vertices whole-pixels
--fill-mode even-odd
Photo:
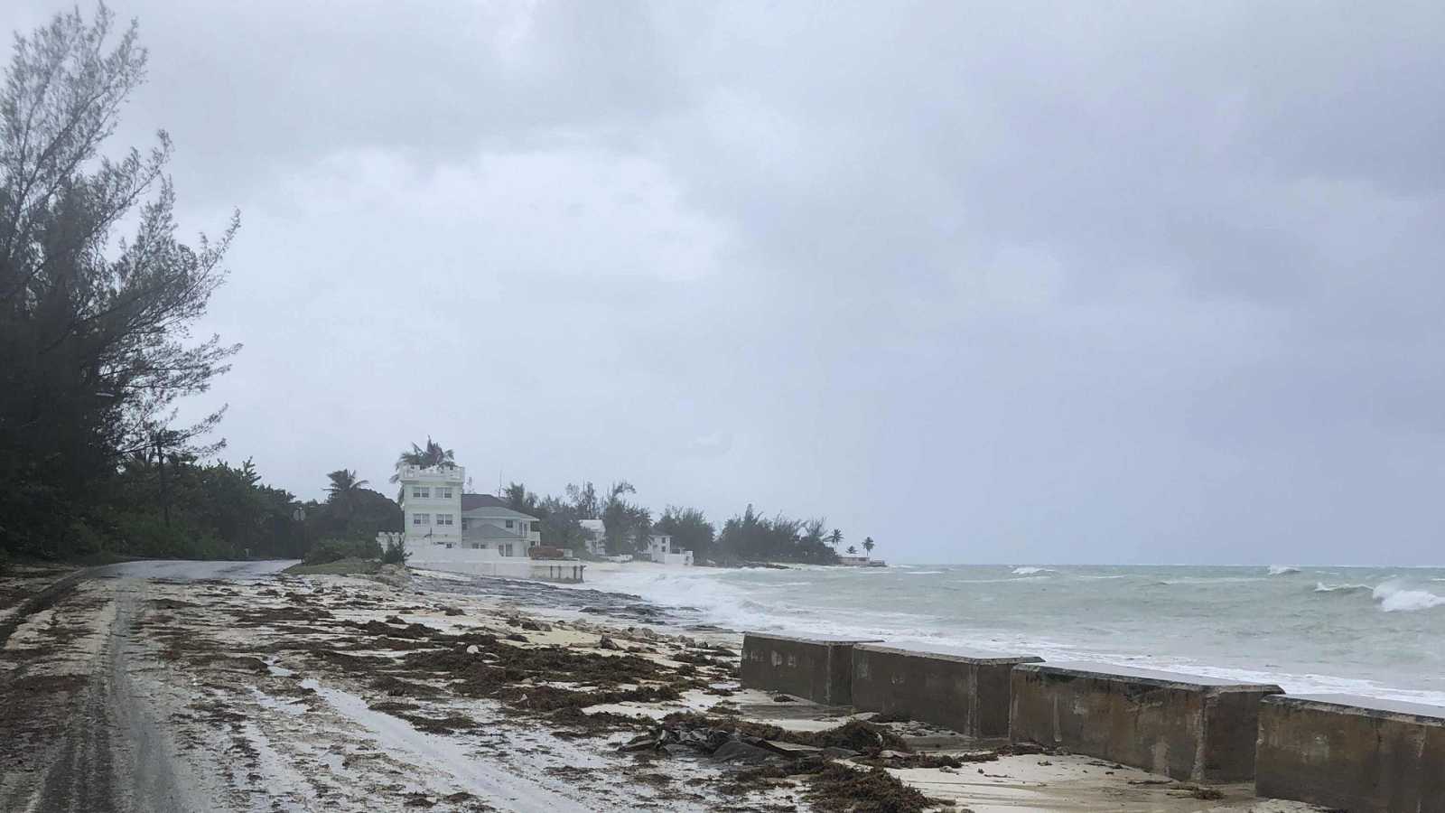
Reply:
[[[1445,561],[1442,3],[111,7],[303,498],[431,434],[900,561]]]

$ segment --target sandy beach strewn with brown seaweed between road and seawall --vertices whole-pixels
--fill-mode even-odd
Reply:
[[[426,573],[81,583],[0,651],[7,810],[117,635],[182,810],[1311,810],[741,690],[734,631]]]

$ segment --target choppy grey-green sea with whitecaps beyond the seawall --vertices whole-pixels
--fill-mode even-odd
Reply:
[[[627,570],[737,631],[857,635],[1445,706],[1445,569],[893,566]]]

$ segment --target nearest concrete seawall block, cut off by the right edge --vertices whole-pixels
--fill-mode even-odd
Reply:
[[[1445,813],[1445,707],[1266,697],[1256,793],[1351,813]]]

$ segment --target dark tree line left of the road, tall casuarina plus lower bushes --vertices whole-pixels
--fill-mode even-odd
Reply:
[[[0,561],[299,557],[400,529],[354,472],[299,503],[217,460],[224,406],[178,420],[240,350],[191,337],[240,218],[182,242],[169,136],[103,152],[144,74],[136,23],[101,6],[17,35],[0,81]]]

